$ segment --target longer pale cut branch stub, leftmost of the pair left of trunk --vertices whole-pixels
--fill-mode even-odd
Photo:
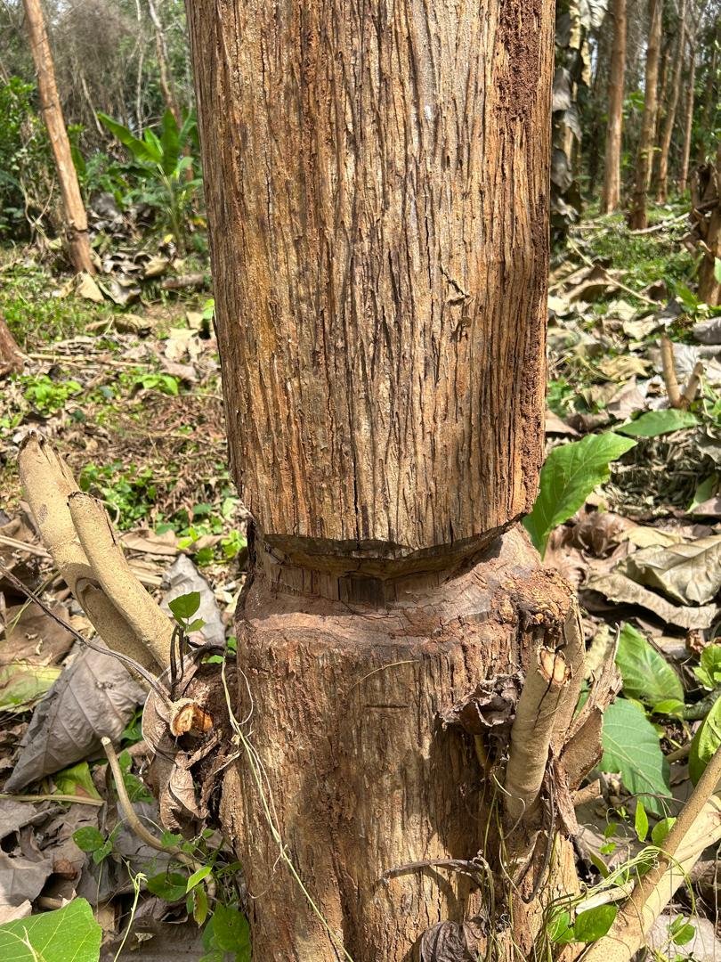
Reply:
[[[80,489],[53,446],[35,432],[20,445],[18,470],[43,544],[87,618],[107,646],[128,655],[148,671],[159,662],[138,640],[131,625],[98,585],[98,578],[78,541],[67,498]]]

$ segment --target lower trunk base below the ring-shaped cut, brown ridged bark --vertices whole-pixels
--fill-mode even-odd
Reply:
[[[295,568],[264,549],[254,569],[237,616],[236,718],[265,798],[243,753],[221,802],[254,957],[431,959],[421,939],[439,923],[465,924],[487,957],[529,952],[537,901],[507,899],[502,873],[491,884],[428,864],[480,853],[495,869],[502,834],[484,745],[442,717],[479,682],[524,671],[539,637],[559,637],[568,586],[540,568],[520,527],[473,564],[393,582]],[[327,928],[270,841],[268,809]],[[563,845],[547,900],[575,886]]]

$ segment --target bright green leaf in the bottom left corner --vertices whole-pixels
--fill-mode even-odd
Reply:
[[[0,925],[3,962],[97,962],[102,929],[86,899]]]

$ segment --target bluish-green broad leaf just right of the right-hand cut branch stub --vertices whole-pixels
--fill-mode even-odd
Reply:
[[[632,795],[643,795],[647,811],[663,815],[659,799],[670,796],[669,768],[656,729],[643,709],[618,698],[606,709],[601,772],[619,772]]]

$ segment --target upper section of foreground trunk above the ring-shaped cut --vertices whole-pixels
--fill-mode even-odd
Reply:
[[[552,12],[282,11],[188,4],[236,481],[315,567],[471,554],[542,453]]]

